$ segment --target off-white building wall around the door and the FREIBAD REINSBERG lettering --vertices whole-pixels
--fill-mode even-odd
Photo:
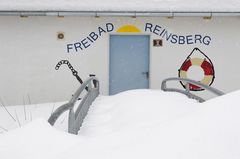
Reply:
[[[56,64],[69,60],[82,79],[96,74],[100,80],[101,94],[108,94],[109,36],[124,25],[134,25],[142,34],[151,35],[150,88],[160,89],[161,81],[178,76],[178,69],[193,48],[198,47],[213,62],[215,80],[213,87],[225,92],[240,88],[239,70],[239,17],[0,17],[0,97],[6,105],[56,102],[68,100],[79,86],[67,66],[56,71]],[[67,44],[86,38],[89,33],[112,23],[114,30],[103,33],[86,49],[67,53]],[[151,23],[177,35],[207,35],[209,45],[172,44],[163,38],[162,47],[152,47],[153,39],[162,39],[149,31]],[[58,40],[57,32],[65,39]],[[191,75],[194,77],[193,75]],[[196,73],[199,76],[199,72]],[[201,79],[199,79],[201,80]],[[181,87],[179,83],[174,85]],[[201,94],[203,94],[201,92]],[[205,94],[209,96],[209,94]]]

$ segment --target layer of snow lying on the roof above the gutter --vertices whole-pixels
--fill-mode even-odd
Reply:
[[[236,11],[237,0],[0,0],[9,11]]]

